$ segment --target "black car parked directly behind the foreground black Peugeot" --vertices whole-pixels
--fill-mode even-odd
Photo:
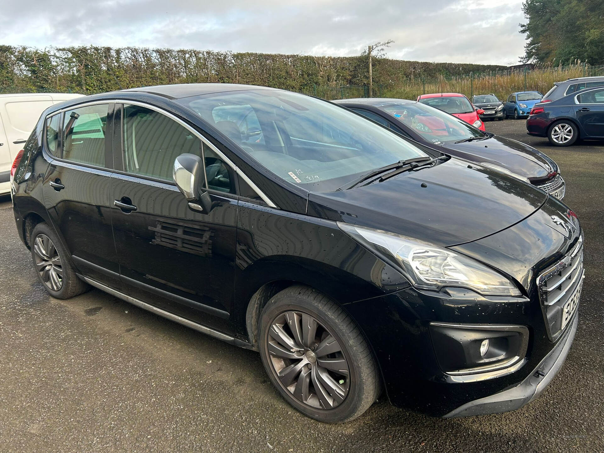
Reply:
[[[403,137],[466,161],[511,172],[557,199],[564,198],[565,182],[556,162],[527,144],[482,132],[454,115],[415,101],[359,98],[335,103]]]

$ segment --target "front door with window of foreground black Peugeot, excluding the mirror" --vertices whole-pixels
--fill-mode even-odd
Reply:
[[[232,332],[237,199],[234,176],[193,132],[160,112],[124,105],[116,121],[112,219],[132,297]],[[120,140],[120,138],[122,140]],[[213,210],[192,211],[172,181],[182,153],[205,155]]]

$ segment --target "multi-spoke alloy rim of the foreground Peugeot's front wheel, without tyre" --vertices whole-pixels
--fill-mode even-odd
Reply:
[[[350,367],[342,347],[313,316],[288,311],[271,323],[269,362],[281,385],[315,409],[341,404],[350,389]]]

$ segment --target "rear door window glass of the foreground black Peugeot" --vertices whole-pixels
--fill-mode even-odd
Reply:
[[[105,167],[107,104],[65,112],[63,159]]]

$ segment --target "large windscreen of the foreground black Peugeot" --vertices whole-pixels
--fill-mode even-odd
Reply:
[[[286,181],[333,191],[370,170],[427,156],[355,113],[277,90],[206,94],[178,100]]]

